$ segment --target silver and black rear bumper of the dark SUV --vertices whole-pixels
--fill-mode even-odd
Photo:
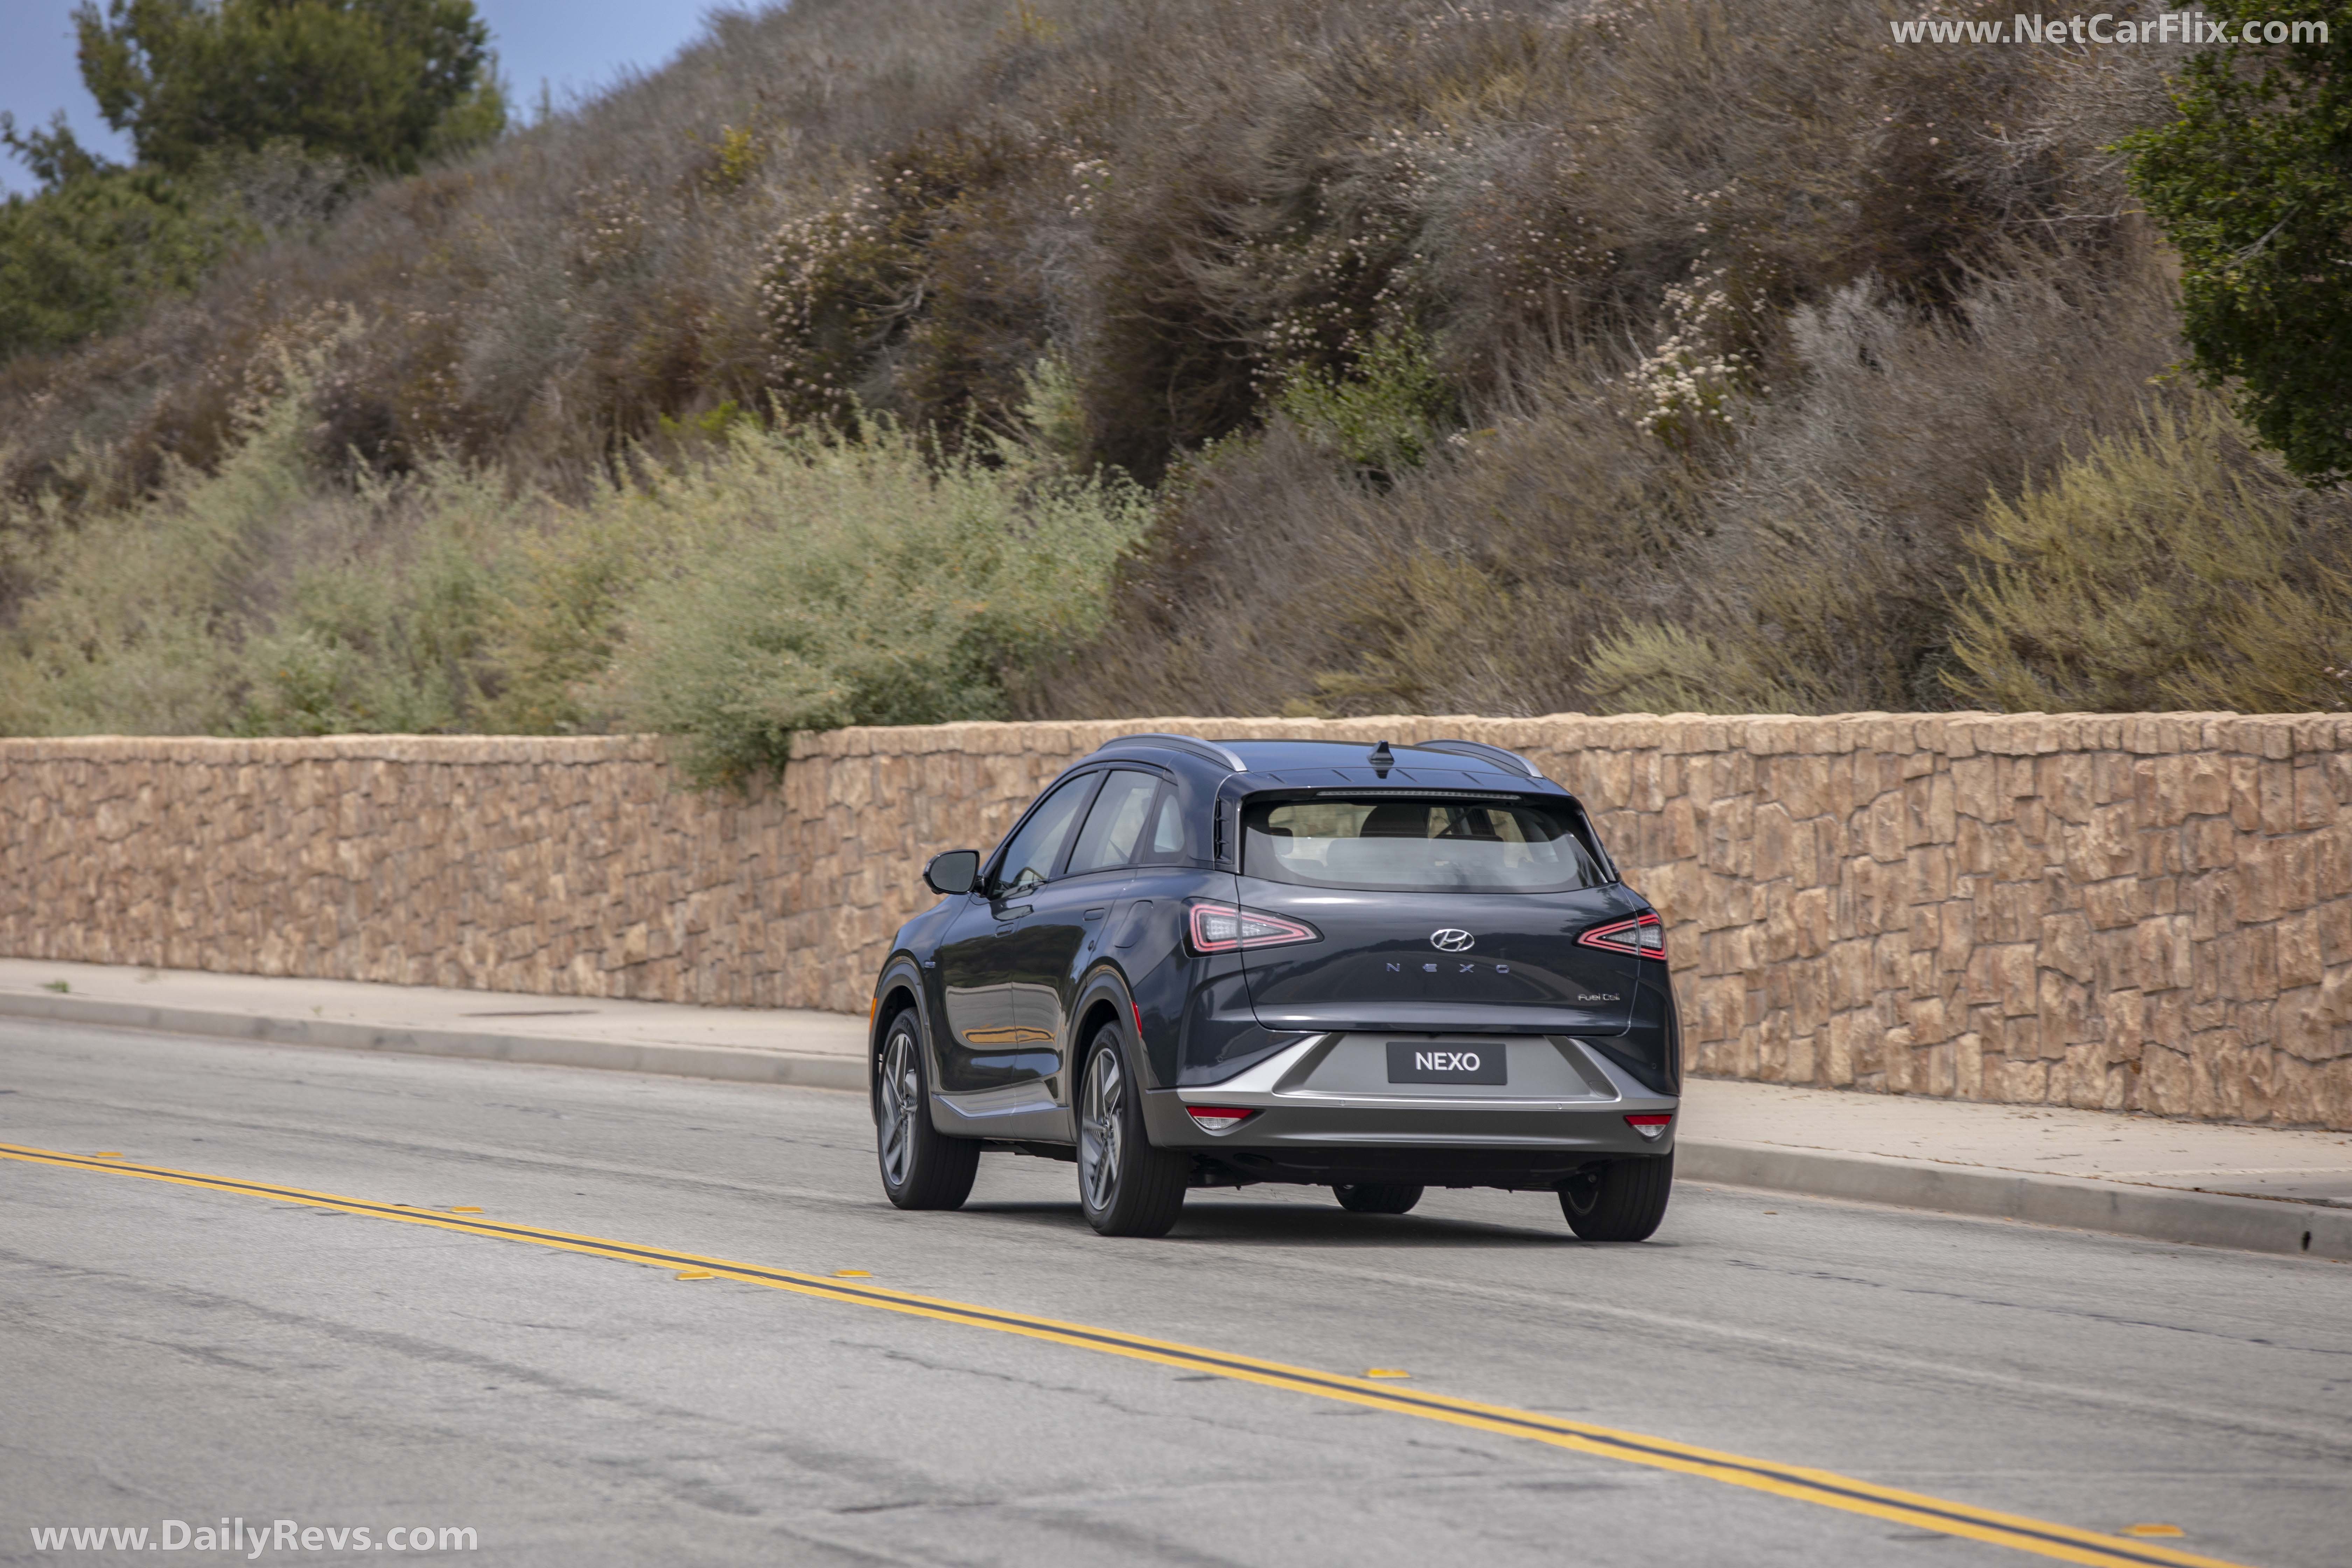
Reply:
[[[1552,1187],[1592,1161],[1675,1147],[1672,1124],[1649,1138],[1625,1117],[1672,1117],[1679,1100],[1571,1037],[1508,1041],[1512,1084],[1494,1088],[1388,1084],[1385,1070],[1367,1072],[1374,1041],[1319,1034],[1225,1084],[1148,1091],[1143,1124],[1157,1147],[1185,1150],[1211,1173],[1315,1185]],[[1254,1114],[1211,1133],[1188,1105]]]

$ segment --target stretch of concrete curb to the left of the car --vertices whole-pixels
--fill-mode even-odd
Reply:
[[[94,1023],[118,1030],[212,1034],[263,1046],[332,1046],[336,1051],[393,1051],[400,1056],[454,1056],[543,1067],[659,1072],[684,1079],[727,1079],[731,1084],[866,1091],[866,1063],[854,1056],[741,1051],[736,1046],[666,1041],[560,1039],[550,1034],[489,1034],[475,1030],[400,1030],[325,1018],[261,1018],[254,1013],[207,1013],[181,1006],[141,1006],[136,1001],[99,1001],[94,997],[26,997],[14,992],[0,992],[0,1013],[54,1023]]]

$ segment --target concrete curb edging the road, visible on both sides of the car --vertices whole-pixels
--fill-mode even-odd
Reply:
[[[739,1051],[734,1046],[628,1044],[546,1034],[487,1034],[473,1030],[397,1030],[322,1018],[261,1018],[202,1009],[141,1006],[94,997],[0,992],[0,1013],[92,1023],[118,1030],[167,1030],[268,1046],[329,1046],[393,1051],[546,1067],[656,1072],[731,1084],[793,1084],[800,1088],[866,1091],[866,1063],[847,1056]],[[2251,1253],[2352,1260],[2352,1208],[2249,1199],[2178,1187],[2133,1187],[2079,1175],[2039,1175],[1983,1166],[1943,1166],[1832,1150],[1788,1150],[1757,1143],[1677,1140],[1675,1175],[1689,1182],[1764,1187],[1804,1197],[1891,1204],[2027,1225],[2098,1229],[2185,1246],[2230,1246]]]

